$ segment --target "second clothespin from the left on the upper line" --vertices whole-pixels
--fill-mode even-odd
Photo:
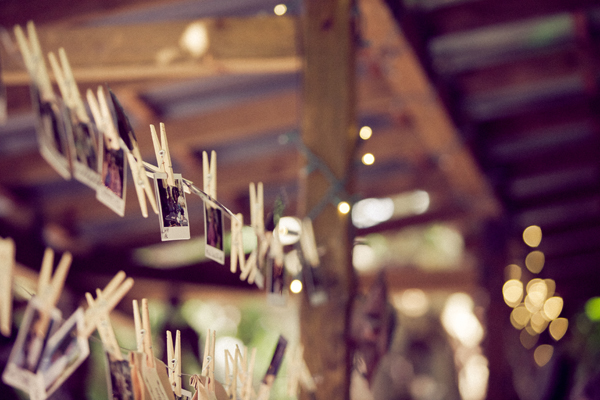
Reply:
[[[77,119],[80,122],[87,124],[91,121],[86,112],[85,104],[81,99],[79,88],[77,87],[75,77],[73,76],[73,70],[71,69],[69,60],[67,59],[67,53],[63,47],[58,49],[58,57],[60,59],[60,64],[58,63],[54,53],[50,52],[48,54],[50,66],[54,72],[54,77],[56,78],[56,83],[58,84],[58,88],[62,94],[63,100],[67,107],[75,112]]]

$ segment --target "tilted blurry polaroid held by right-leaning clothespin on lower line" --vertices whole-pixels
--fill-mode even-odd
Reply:
[[[82,333],[84,325],[83,309],[78,308],[48,339],[37,370],[44,398],[54,393],[89,356],[89,343]]]

